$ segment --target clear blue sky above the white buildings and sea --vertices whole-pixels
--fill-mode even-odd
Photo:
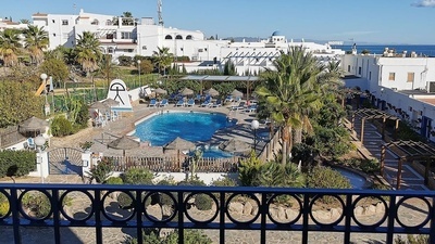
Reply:
[[[0,17],[89,13],[154,17],[157,0],[0,0]],[[162,0],[166,27],[207,37],[340,40],[373,44],[435,44],[435,0]]]

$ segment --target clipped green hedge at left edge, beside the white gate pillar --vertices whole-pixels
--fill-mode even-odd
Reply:
[[[0,152],[0,177],[27,176],[36,170],[36,154],[28,151]]]

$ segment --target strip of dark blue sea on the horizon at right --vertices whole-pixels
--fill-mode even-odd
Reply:
[[[395,50],[396,53],[408,51],[408,54],[410,54],[412,51],[414,51],[420,56],[435,57],[435,44],[356,44],[358,53],[361,53],[362,50],[369,50],[371,54],[382,54],[385,48],[388,48]],[[345,51],[352,50],[351,44],[332,46],[332,48],[337,48]]]

